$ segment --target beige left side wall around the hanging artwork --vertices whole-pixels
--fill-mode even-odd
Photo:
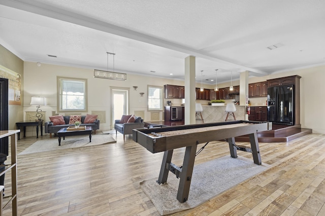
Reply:
[[[15,71],[21,75],[21,93],[20,100],[21,105],[9,105],[9,129],[16,129],[16,122],[22,121],[23,113],[23,96],[24,96],[24,73],[23,73],[23,61],[11,53],[9,50],[0,45],[0,65]]]

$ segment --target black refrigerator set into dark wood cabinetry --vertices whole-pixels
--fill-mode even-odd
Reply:
[[[295,86],[278,85],[268,88],[268,121],[295,125]]]

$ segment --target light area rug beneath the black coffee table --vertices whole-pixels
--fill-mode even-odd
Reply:
[[[61,146],[59,146],[58,138],[52,138],[46,140],[39,140],[34,144],[32,144],[31,146],[29,146],[28,148],[26,148],[18,155],[69,149],[69,148],[78,148],[84,146],[102,145],[107,143],[116,143],[116,140],[110,134],[92,135],[91,142],[89,142],[88,135],[73,136],[73,137],[66,137],[65,140],[61,138]]]

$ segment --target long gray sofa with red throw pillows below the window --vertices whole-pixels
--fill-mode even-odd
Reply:
[[[86,117],[87,117],[87,119],[89,119],[88,116],[92,116],[93,122],[84,123]],[[50,119],[52,117],[59,117],[59,116],[51,116]],[[71,117],[70,115],[63,116],[64,122],[62,121],[61,124],[56,124],[55,123],[56,121],[54,121],[54,120],[45,122],[45,124],[44,124],[45,133],[50,134],[50,138],[52,138],[52,133],[55,135],[61,128],[73,126],[74,123],[70,122],[70,117]],[[69,122],[70,122],[70,124],[69,124]],[[81,115],[80,122],[81,122],[80,123],[81,126],[82,125],[91,126],[92,130],[94,131],[95,134],[96,134],[96,130],[98,130],[100,128],[100,120],[99,119],[94,119],[93,115],[88,115],[88,114],[87,114],[87,116],[86,115]]]

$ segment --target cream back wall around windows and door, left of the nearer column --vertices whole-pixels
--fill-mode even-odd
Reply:
[[[35,62],[24,62],[24,112],[35,111],[35,106],[30,106],[31,96],[44,96],[47,98],[47,106],[42,107],[42,111],[46,112],[45,120],[49,120],[52,112],[56,112],[57,105],[57,86],[56,77],[78,77],[86,78],[88,84],[88,111],[105,111],[106,123],[101,123],[101,130],[108,130],[112,128],[111,122],[111,89],[114,87],[129,89],[129,114],[135,111],[143,111],[144,119],[149,121],[151,119],[151,112],[147,111],[147,85],[157,85],[163,87],[164,84],[183,85],[181,80],[171,80],[157,78],[153,76],[139,76],[127,74],[126,81],[101,79],[93,77],[93,69],[82,69],[58,65],[42,64],[40,67]],[[137,86],[137,91],[133,86]],[[139,93],[145,93],[143,97]],[[167,100],[166,100],[167,101]],[[181,103],[181,100],[176,101],[175,104]],[[166,104],[166,103],[164,103]],[[59,113],[64,115],[64,113]],[[82,113],[86,114],[86,113]],[[159,120],[163,120],[163,111],[159,112]],[[104,122],[104,119],[101,119]]]

